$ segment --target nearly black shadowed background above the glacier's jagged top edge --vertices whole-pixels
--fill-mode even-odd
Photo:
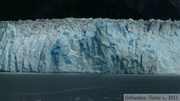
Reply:
[[[180,1],[180,0],[179,0]],[[0,0],[0,21],[53,18],[180,19],[178,0]]]

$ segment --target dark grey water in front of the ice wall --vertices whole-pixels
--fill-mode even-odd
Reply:
[[[180,93],[180,76],[0,74],[0,101],[123,101],[127,93]]]

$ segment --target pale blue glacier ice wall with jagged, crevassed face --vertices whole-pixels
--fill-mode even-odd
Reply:
[[[0,21],[0,72],[180,74],[180,21]]]

